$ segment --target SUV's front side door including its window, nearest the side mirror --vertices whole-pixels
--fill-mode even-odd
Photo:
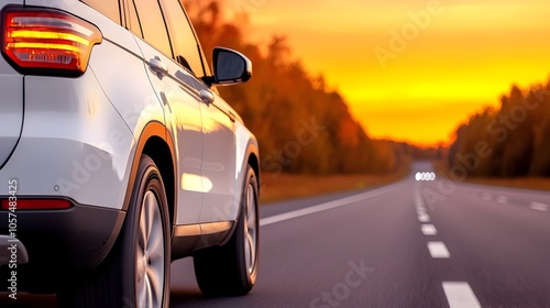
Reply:
[[[202,80],[210,76],[193,25],[177,0],[162,0],[168,21],[175,57],[180,65],[194,73],[190,84],[198,95],[202,117],[202,210],[199,222],[227,221],[234,217],[235,183],[234,117],[226,102]],[[202,92],[201,92],[202,91]],[[202,95],[202,97],[201,97]],[[206,95],[206,97],[204,97]],[[213,97],[210,101],[209,97]]]

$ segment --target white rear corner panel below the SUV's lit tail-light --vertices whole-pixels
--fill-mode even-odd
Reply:
[[[52,90],[59,88],[72,90]],[[26,76],[25,123],[0,180],[18,178],[21,196],[121,209],[132,140],[90,72],[78,79]]]

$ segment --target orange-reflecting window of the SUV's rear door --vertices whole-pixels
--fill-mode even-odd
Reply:
[[[134,0],[134,3],[140,19],[143,40],[172,57],[170,41],[157,0]]]

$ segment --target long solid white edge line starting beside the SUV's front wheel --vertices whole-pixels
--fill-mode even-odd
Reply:
[[[371,198],[374,198],[374,197],[377,197],[377,196],[382,196],[384,194],[387,194],[387,193],[394,190],[395,189],[394,186],[396,186],[397,184],[398,183],[393,184],[391,186],[386,186],[386,187],[377,188],[377,189],[370,190],[370,191],[366,191],[366,193],[362,193],[362,194],[359,194],[359,195],[354,195],[354,196],[351,196],[351,197],[345,197],[343,199],[332,200],[332,201],[320,204],[320,205],[317,205],[317,206],[311,206],[309,208],[299,209],[299,210],[295,210],[295,211],[289,211],[289,212],[285,212],[285,213],[280,213],[280,215],[275,215],[275,216],[266,217],[266,218],[263,218],[263,219],[260,220],[260,227],[264,227],[264,226],[268,226],[268,224],[273,224],[273,223],[286,221],[286,220],[289,220],[289,219],[294,219],[294,218],[298,218],[298,217],[302,217],[302,216],[308,216],[308,215],[312,215],[312,213],[326,211],[326,210],[331,210],[331,209],[340,208],[340,207],[343,207],[343,206],[349,206],[349,205],[352,205],[352,204],[355,204],[355,202],[359,202],[359,201],[363,201],[363,200],[371,199]]]

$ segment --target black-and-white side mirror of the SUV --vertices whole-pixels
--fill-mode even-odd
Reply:
[[[213,84],[238,85],[252,77],[252,62],[243,54],[222,47],[213,48]]]

